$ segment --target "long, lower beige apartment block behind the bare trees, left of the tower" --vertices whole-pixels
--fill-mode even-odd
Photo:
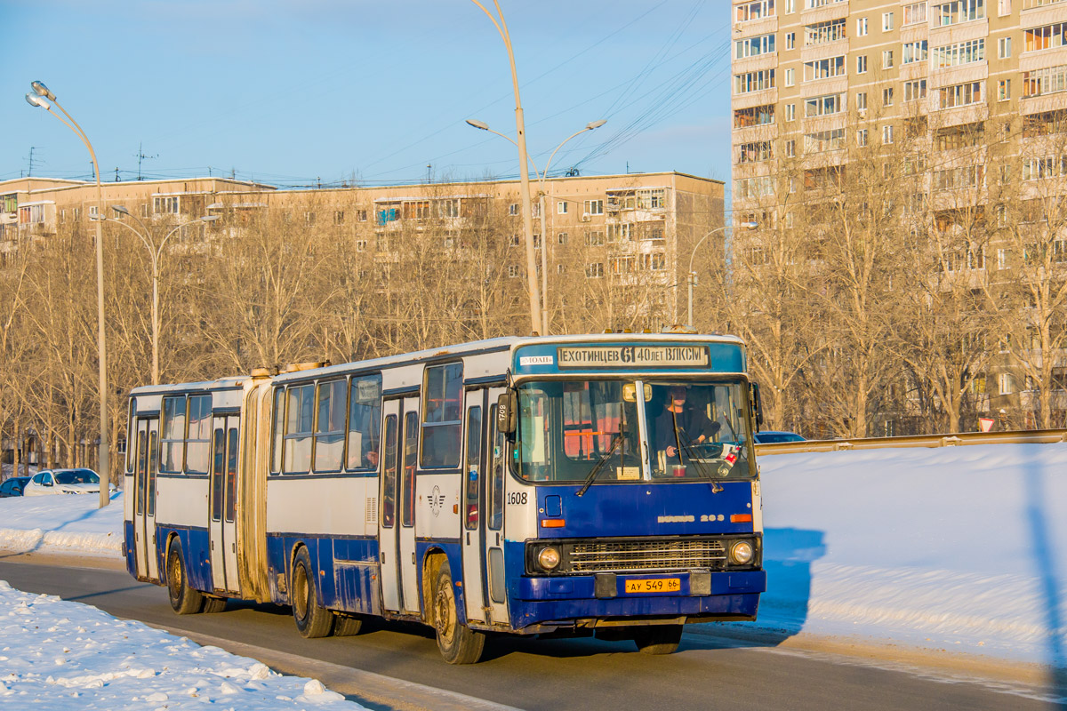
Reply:
[[[504,180],[277,190],[225,178],[190,178],[107,182],[102,190],[107,206],[124,206],[149,224],[219,214],[226,219],[189,229],[220,233],[239,223],[235,216],[277,210],[308,226],[329,226],[338,238],[375,253],[388,252],[395,239],[431,226],[442,231],[446,244],[458,244],[465,229],[484,225],[489,213],[498,214],[494,233],[520,247],[508,265],[508,276],[517,279],[525,276],[520,184]],[[551,286],[566,288],[575,278],[619,287],[651,285],[654,296],[646,292],[644,303],[634,308],[665,314],[663,325],[678,322],[684,308],[678,285],[686,280],[694,246],[723,224],[721,181],[673,172],[572,176],[535,182],[531,192],[535,244]],[[27,238],[54,233],[59,224],[87,224],[97,210],[95,183],[82,181],[9,180],[0,182],[0,259]],[[721,264],[722,241],[704,241],[701,254],[695,269]]]

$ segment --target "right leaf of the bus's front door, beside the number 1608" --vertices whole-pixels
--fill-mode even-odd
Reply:
[[[489,390],[489,402],[496,399],[505,388]],[[508,479],[507,439],[496,431],[496,413],[485,418],[485,447],[483,453],[485,475],[482,476],[482,501],[485,515],[481,517],[484,531],[485,565],[484,587],[488,599],[487,610],[494,623],[509,623],[508,595],[504,575],[504,485]]]

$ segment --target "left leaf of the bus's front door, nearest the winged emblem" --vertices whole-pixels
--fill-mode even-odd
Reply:
[[[485,422],[494,419],[496,403],[487,401],[485,389],[467,390],[466,447],[463,450],[463,515],[460,537],[463,547],[463,599],[467,619],[485,621],[485,530],[482,526],[482,488],[485,480]]]

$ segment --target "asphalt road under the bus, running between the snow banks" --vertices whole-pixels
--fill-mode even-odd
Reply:
[[[407,681],[530,711],[1067,709],[1067,688],[1055,680],[1044,688],[983,681],[700,633],[686,633],[679,652],[667,657],[638,653],[626,642],[498,639],[487,645],[482,663],[449,666],[428,628],[376,624],[357,636],[304,640],[287,608],[230,601],[219,614],[179,617],[164,588],[124,571],[13,560],[0,555],[0,580],[19,589],[59,595],[222,647],[228,648],[223,640],[233,641],[230,651],[261,651],[259,658],[274,668],[322,679],[371,708],[464,706],[461,698],[419,698]],[[363,682],[371,691],[361,693]]]

